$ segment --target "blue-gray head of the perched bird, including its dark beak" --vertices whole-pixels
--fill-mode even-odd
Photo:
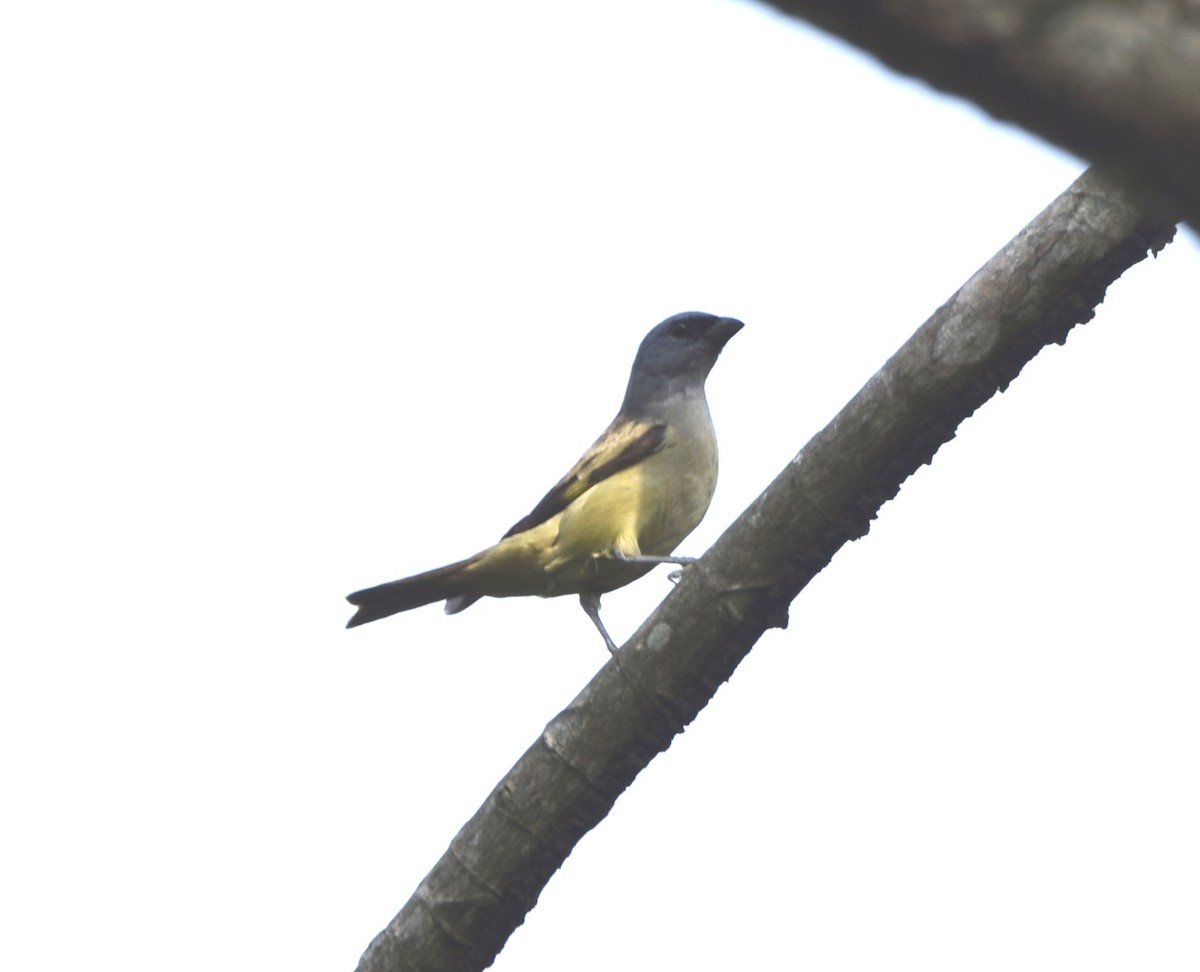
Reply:
[[[668,317],[646,335],[637,349],[622,412],[680,391],[702,395],[721,348],[742,328],[742,322],[732,317],[697,311]]]

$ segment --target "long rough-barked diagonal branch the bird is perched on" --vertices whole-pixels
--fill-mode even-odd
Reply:
[[[1085,173],[900,348],[730,527],[462,828],[362,972],[485,968],[575,844],[900,484],[1174,227]]]

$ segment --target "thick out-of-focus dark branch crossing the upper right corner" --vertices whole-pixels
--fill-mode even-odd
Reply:
[[[1200,229],[1195,0],[768,0],[1084,158]]]

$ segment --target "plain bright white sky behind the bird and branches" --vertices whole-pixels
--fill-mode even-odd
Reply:
[[[734,2],[23,4],[0,91],[5,968],[353,967],[607,655],[343,595],[494,540],[690,308],[746,323],[701,553],[1084,168]],[[960,428],[497,970],[1200,964],[1198,256]]]

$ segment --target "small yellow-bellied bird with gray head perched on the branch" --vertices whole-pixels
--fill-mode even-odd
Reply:
[[[347,596],[347,628],[445,601],[456,614],[480,598],[577,594],[613,654],[600,595],[658,564],[686,565],[676,547],[716,488],[716,434],[704,380],[744,325],[689,311],[642,340],[620,410],[571,470],[493,546],[446,566]]]

